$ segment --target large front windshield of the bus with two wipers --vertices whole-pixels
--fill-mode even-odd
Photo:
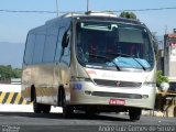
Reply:
[[[145,28],[111,22],[77,22],[76,55],[87,67],[152,69],[154,53]]]

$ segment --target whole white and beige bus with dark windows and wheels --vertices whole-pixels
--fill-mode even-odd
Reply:
[[[63,107],[87,113],[129,111],[139,120],[155,102],[152,35],[139,21],[107,15],[69,15],[28,34],[22,97],[35,112]]]

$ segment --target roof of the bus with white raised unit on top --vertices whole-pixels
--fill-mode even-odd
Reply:
[[[85,21],[107,21],[107,22],[119,22],[119,23],[128,23],[128,24],[142,24],[145,26],[144,23],[140,22],[139,20],[134,19],[125,19],[125,18],[118,18],[117,14],[112,12],[86,12],[86,13],[66,13],[64,15],[61,15],[58,18],[48,20],[45,22],[44,25],[34,28],[30,30],[30,33],[34,32],[44,32],[46,29],[45,25],[50,26],[53,24],[58,24],[61,21],[69,22],[72,20],[85,20]]]

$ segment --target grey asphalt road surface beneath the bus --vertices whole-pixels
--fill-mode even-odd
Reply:
[[[141,117],[132,122],[129,116],[102,113],[87,117],[77,113],[64,119],[62,113],[0,112],[0,132],[176,132],[176,118]]]

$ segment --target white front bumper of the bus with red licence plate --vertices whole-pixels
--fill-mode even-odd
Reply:
[[[68,103],[73,106],[118,106],[153,109],[155,103],[154,87],[114,88],[95,86],[91,82],[76,82],[70,86]]]

